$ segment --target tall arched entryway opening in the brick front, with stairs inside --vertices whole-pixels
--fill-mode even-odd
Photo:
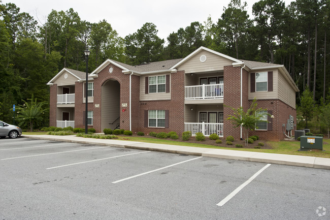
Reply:
[[[101,131],[115,129],[120,122],[120,83],[109,79],[102,85]]]

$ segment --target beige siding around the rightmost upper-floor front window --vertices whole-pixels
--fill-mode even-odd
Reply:
[[[261,72],[269,72],[273,71],[273,91],[256,91],[251,92],[251,73],[261,73]],[[278,70],[271,69],[271,70],[262,70],[262,71],[250,71],[249,72],[249,99],[256,98],[257,100],[262,99],[278,99]]]

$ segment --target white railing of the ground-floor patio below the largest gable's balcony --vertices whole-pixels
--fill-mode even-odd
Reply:
[[[223,123],[185,122],[184,131],[190,131],[192,135],[201,132],[205,136],[210,136],[215,133],[219,137],[223,137]]]

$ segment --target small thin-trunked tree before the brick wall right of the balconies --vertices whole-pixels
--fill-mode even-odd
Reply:
[[[248,145],[248,137],[249,137],[249,131],[254,131],[255,129],[258,129],[257,124],[265,115],[269,115],[272,118],[274,118],[273,115],[270,115],[267,112],[267,109],[263,108],[258,108],[257,109],[257,100],[254,98],[252,101],[252,104],[250,108],[245,112],[243,110],[243,107],[239,108],[233,108],[230,106],[225,106],[228,108],[231,108],[234,111],[234,115],[229,115],[227,120],[232,121],[233,125],[235,128],[238,128],[242,126],[245,132],[244,133],[244,140],[245,140],[245,145]]]

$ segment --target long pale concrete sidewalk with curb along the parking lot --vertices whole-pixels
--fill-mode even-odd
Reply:
[[[54,136],[54,135],[22,135],[25,138],[66,141],[84,144],[97,144],[103,146],[124,147],[140,150],[151,150],[168,153],[180,153],[196,156],[209,156],[211,158],[222,158],[230,160],[261,162],[270,164],[282,164],[299,167],[321,168],[330,170],[329,158],[317,158],[315,156],[299,156],[278,153],[261,153],[240,150],[224,150],[200,147],[188,147],[168,144],[154,144],[136,141],[119,141],[109,139],[93,139],[69,136]]]

